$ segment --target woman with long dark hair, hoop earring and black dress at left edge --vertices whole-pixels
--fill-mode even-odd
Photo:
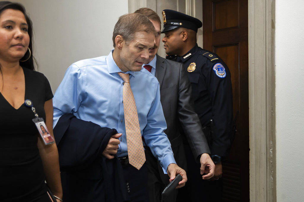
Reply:
[[[56,144],[45,145],[32,119],[46,121],[53,136],[53,94],[34,71],[32,22],[19,3],[0,1],[0,201],[62,201]]]

